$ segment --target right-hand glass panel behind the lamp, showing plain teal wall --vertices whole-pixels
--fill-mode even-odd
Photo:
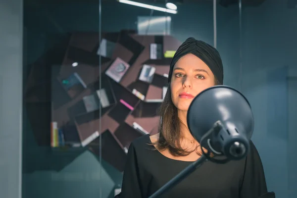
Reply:
[[[296,2],[227,0],[218,5],[217,18],[225,83],[239,89],[251,104],[251,140],[260,154],[268,191],[295,198]]]

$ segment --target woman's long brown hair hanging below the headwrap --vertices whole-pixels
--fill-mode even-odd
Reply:
[[[219,82],[216,78],[214,84],[219,85]],[[177,115],[177,108],[172,102],[170,83],[168,85],[164,100],[159,108],[159,115],[159,140],[155,143],[152,143],[152,145],[155,145],[158,150],[168,149],[168,151],[173,156],[187,156],[194,150],[196,150],[199,155],[202,155],[200,148],[198,148],[200,146],[190,151],[183,149],[181,146],[180,140],[182,135],[180,130],[182,124],[184,123],[182,123],[182,121],[179,119]],[[205,151],[207,152],[207,150]]]

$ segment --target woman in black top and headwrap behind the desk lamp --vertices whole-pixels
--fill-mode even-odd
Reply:
[[[187,39],[176,51],[169,86],[160,108],[159,133],[131,143],[119,198],[148,198],[201,156],[187,126],[191,101],[201,91],[223,84],[223,65],[216,49]],[[164,198],[258,198],[267,192],[259,154],[250,142],[245,159],[207,161]]]

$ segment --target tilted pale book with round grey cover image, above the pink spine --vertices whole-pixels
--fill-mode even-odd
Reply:
[[[130,65],[127,62],[117,57],[106,70],[105,74],[113,79],[115,82],[119,83],[129,67]]]

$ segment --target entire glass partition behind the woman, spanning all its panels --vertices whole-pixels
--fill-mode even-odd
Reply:
[[[297,17],[290,0],[24,1],[24,198],[113,198],[156,134],[177,48],[216,47],[255,118],[269,191],[296,195]]]

